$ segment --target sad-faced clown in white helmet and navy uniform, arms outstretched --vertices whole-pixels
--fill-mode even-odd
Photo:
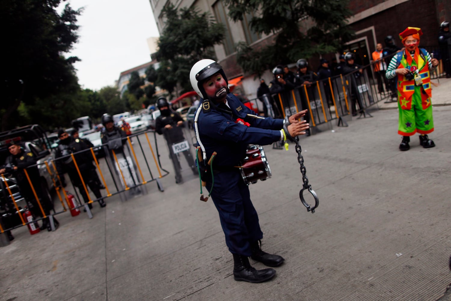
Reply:
[[[299,118],[307,110],[285,120],[255,118],[253,111],[229,93],[226,74],[214,60],[198,61],[189,77],[194,91],[202,97],[194,122],[203,154],[199,164],[201,172],[210,170],[203,162],[207,162],[213,152],[217,153],[212,163],[214,179],[211,172],[204,172],[204,179],[218,210],[226,245],[233,255],[234,278],[254,283],[267,281],[276,271],[254,269],[248,257],[270,267],[281,265],[285,259],[261,250],[263,233],[258,214],[237,166],[246,156],[248,144],[269,145],[305,134],[308,123]]]

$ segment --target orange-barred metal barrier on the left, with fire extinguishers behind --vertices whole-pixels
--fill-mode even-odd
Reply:
[[[155,155],[154,152],[154,148],[152,147],[152,144],[150,143],[150,139],[148,134],[153,134],[153,138],[155,141],[155,148],[156,148],[156,153],[157,156]],[[141,137],[140,137],[141,136]],[[144,141],[142,142],[141,139],[144,138]],[[136,144],[133,143],[135,146],[133,146],[132,144],[132,139],[135,142],[138,142],[138,147],[136,147]],[[105,157],[105,162],[106,162],[106,166],[108,168],[108,174],[104,174],[100,168],[99,165],[99,156],[94,153],[94,149],[93,148],[88,148],[85,149],[83,151],[77,152],[77,153],[70,153],[66,156],[60,157],[58,159],[52,159],[49,160],[49,162],[45,162],[42,164],[36,164],[33,165],[32,167],[39,167],[40,165],[45,164],[46,166],[46,170],[47,172],[51,175],[52,181],[53,181],[53,187],[55,188],[55,192],[58,196],[58,199],[60,200],[61,203],[61,209],[59,211],[55,211],[55,205],[53,205],[53,210],[52,212],[47,215],[45,213],[45,210],[43,209],[43,205],[41,204],[41,200],[39,199],[37,192],[35,190],[35,187],[37,185],[40,185],[40,183],[33,183],[30,179],[30,177],[28,176],[28,172],[25,169],[25,175],[27,177],[28,183],[32,189],[32,193],[34,195],[34,198],[36,200],[36,203],[39,206],[39,210],[42,214],[43,217],[36,217],[33,216],[32,219],[28,220],[26,218],[24,218],[23,216],[23,212],[26,210],[25,208],[21,208],[18,206],[18,202],[24,200],[24,198],[20,195],[20,187],[18,187],[18,185],[16,183],[14,183],[13,185],[9,185],[10,183],[13,183],[11,181],[11,178],[8,178],[5,174],[2,174],[1,177],[3,179],[2,183],[4,184],[4,186],[2,185],[2,189],[0,189],[0,192],[2,193],[5,202],[8,202],[8,198],[10,203],[8,204],[8,206],[10,206],[11,208],[6,209],[4,212],[1,213],[0,215],[0,233],[4,233],[5,231],[9,231],[18,227],[22,227],[25,225],[36,225],[37,221],[40,221],[44,218],[50,217],[50,222],[51,222],[51,228],[52,230],[55,230],[55,225],[54,225],[54,221],[53,221],[53,216],[54,215],[58,215],[60,213],[64,213],[66,211],[68,211],[68,209],[71,211],[71,213],[74,210],[79,210],[80,208],[84,208],[88,217],[92,218],[92,213],[91,210],[88,206],[88,204],[92,204],[93,202],[96,202],[100,199],[107,199],[113,195],[116,194],[120,194],[121,195],[121,199],[123,199],[122,195],[126,194],[127,192],[133,191],[135,190],[135,192],[141,188],[143,188],[142,190],[139,190],[141,192],[141,194],[146,194],[147,190],[145,189],[145,185],[149,184],[151,182],[156,182],[157,184],[157,188],[158,190],[160,190],[161,192],[164,191],[163,186],[161,185],[161,181],[159,179],[161,179],[164,176],[167,176],[169,174],[169,171],[165,170],[163,167],[161,167],[161,162],[160,162],[160,158],[158,155],[158,144],[156,142],[156,134],[154,131],[146,131],[146,132],[141,132],[141,133],[137,133],[137,134],[133,134],[127,137],[126,139],[126,144],[123,145],[123,152],[120,154],[115,150],[110,150],[111,151],[111,156],[109,157],[108,151],[106,151],[106,148],[108,147],[108,144],[102,144],[101,145],[101,151],[104,151],[104,153],[106,153],[106,157]],[[147,149],[147,151],[145,151],[145,149]],[[150,153],[148,152],[150,150]],[[89,194],[89,191],[87,189],[87,183],[86,181],[83,179],[82,173],[78,168],[78,164],[77,164],[77,160],[76,160],[76,155],[78,154],[83,154],[85,156],[90,156],[92,157],[92,161],[94,162],[94,166],[96,167],[98,173],[100,174],[101,177],[101,181],[103,183],[103,185],[105,186],[105,190],[106,190],[106,195],[102,196],[101,198],[97,198],[97,199],[92,199],[91,195]],[[139,160],[138,160],[138,155],[142,155]],[[152,158],[147,158],[150,157],[150,154],[152,155]],[[56,169],[56,164],[55,162],[58,160],[65,160],[68,158],[72,158],[73,162],[74,162],[74,166],[77,170],[78,176],[80,177],[82,186],[83,186],[83,190],[84,192],[87,194],[87,198],[89,199],[89,202],[84,203],[83,198],[80,197],[79,192],[77,191],[77,187],[75,185],[72,185],[72,187],[62,187],[60,184],[62,183],[61,181],[61,176],[57,169]],[[149,161],[152,161],[155,163],[155,167],[158,176],[154,176],[155,174],[155,170],[152,173],[152,169],[150,167],[150,165],[152,165],[151,163],[149,163]],[[30,167],[28,167],[30,168]],[[96,171],[92,171],[92,172],[96,172]],[[68,175],[66,175],[66,181],[67,178],[69,178]],[[69,178],[70,180],[70,178]],[[108,182],[113,182],[113,186],[111,187],[111,185],[108,185]],[[69,182],[69,181],[68,181]],[[68,185],[69,186],[69,185]],[[12,189],[17,190],[18,192],[13,192]],[[75,199],[69,197],[70,194],[68,194],[67,192],[71,190],[71,192],[76,196]],[[136,193],[135,193],[136,195]],[[127,196],[125,196],[125,199],[127,199]],[[25,200],[26,201],[26,207],[28,209],[29,207],[29,200]],[[52,201],[52,200],[50,200]],[[53,202],[52,202],[53,203]],[[5,221],[6,218],[12,218],[16,221],[16,225],[11,226],[11,227],[4,227],[2,225],[2,220]]]

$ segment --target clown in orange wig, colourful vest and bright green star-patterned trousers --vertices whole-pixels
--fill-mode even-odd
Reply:
[[[391,59],[385,76],[387,79],[398,77],[398,134],[402,135],[399,149],[406,151],[410,148],[410,136],[420,134],[420,145],[423,148],[432,148],[434,142],[428,134],[434,131],[431,105],[431,79],[438,60],[431,59],[428,51],[418,48],[420,28],[408,27],[399,34],[405,51],[398,52]]]

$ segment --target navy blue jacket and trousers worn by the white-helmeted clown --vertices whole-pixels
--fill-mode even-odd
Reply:
[[[199,138],[203,144],[207,160],[213,152],[213,179],[207,179],[207,189],[218,210],[221,226],[226,236],[226,244],[232,254],[251,256],[250,243],[262,239],[263,233],[249,195],[249,187],[243,181],[236,166],[246,156],[248,144],[268,145],[281,139],[283,120],[255,119],[246,114],[254,114],[235,95],[226,97],[228,106],[221,103],[217,107],[212,102],[203,102],[198,116]],[[250,126],[237,123],[237,119]]]

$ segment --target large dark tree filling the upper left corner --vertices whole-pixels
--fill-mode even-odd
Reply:
[[[56,95],[79,90],[73,66],[79,59],[65,58],[64,53],[78,41],[77,16],[82,10],[65,5],[58,14],[61,2],[2,1],[0,22],[2,28],[8,28],[3,32],[7,46],[3,47],[0,75],[2,130],[23,125],[17,111],[21,103],[24,107],[49,105]]]

